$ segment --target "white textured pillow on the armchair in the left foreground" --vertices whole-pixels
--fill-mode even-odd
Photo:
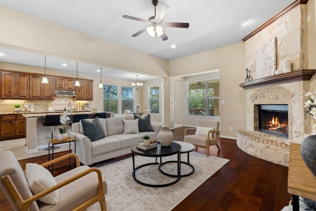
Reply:
[[[25,167],[25,177],[33,194],[38,194],[57,184],[49,170],[39,164],[27,163]],[[47,204],[57,204],[58,198],[58,190],[55,190],[40,198],[39,201]]]

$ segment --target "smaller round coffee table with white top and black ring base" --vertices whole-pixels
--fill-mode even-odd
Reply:
[[[180,177],[184,177],[184,176],[190,176],[191,174],[194,173],[194,166],[192,166],[190,164],[190,157],[189,157],[189,153],[192,152],[194,150],[194,145],[191,144],[191,143],[188,143],[188,142],[184,142],[184,141],[173,141],[173,143],[177,143],[181,146],[181,151],[180,153],[183,154],[183,153],[187,153],[188,154],[188,160],[187,162],[184,162],[184,161],[180,161],[182,164],[185,164],[185,165],[188,165],[189,167],[192,168],[192,171],[190,171],[189,173],[186,173],[186,174],[180,174]],[[177,163],[178,161],[166,161],[164,163],[161,163],[159,165],[159,171],[161,173],[163,173],[164,175],[167,175],[167,176],[173,176],[173,177],[177,177],[178,175],[174,175],[174,174],[169,174],[169,173],[166,173],[164,172],[162,169],[161,169],[161,166],[165,165],[165,164],[168,164],[168,163]]]

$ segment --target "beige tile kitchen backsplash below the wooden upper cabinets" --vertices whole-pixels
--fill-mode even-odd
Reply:
[[[0,112],[13,112],[15,110],[14,104],[20,104],[21,108],[24,108],[25,102],[34,102],[35,111],[48,111],[48,105],[52,106],[52,111],[63,110],[68,107],[69,102],[71,103],[72,109],[80,110],[80,104],[89,103],[88,101],[74,101],[73,97],[55,97],[55,100],[0,100]]]

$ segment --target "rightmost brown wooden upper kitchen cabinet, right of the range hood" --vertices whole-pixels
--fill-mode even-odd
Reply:
[[[80,86],[75,86],[76,97],[74,100],[93,100],[93,81],[78,80]]]

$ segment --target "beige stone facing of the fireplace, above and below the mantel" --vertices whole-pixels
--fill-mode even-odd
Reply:
[[[307,61],[307,5],[299,4],[289,9],[273,23],[245,41],[246,62],[253,79],[257,79],[257,48],[276,37],[276,69],[282,69],[285,59],[291,69],[308,69]],[[304,93],[309,82],[265,86],[246,90],[246,129],[237,131],[237,145],[255,157],[288,166],[289,145],[301,143],[305,133],[310,133],[310,118],[304,108]],[[259,104],[288,104],[288,139],[258,131]]]

